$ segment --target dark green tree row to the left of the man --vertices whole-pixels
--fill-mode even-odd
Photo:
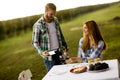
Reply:
[[[21,32],[25,33],[27,30],[32,30],[34,22],[40,16],[41,15],[34,15],[30,17],[0,21],[0,40],[17,36]]]

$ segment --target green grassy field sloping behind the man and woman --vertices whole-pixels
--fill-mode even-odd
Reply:
[[[61,24],[64,37],[70,49],[70,56],[77,56],[78,42],[82,37],[82,25],[88,20],[95,20],[107,49],[103,59],[115,59],[120,62],[120,3],[84,15],[79,15],[71,21]],[[30,69],[33,80],[41,80],[46,69],[40,55],[31,44],[32,31],[4,41],[0,41],[0,80],[17,80],[22,70]]]

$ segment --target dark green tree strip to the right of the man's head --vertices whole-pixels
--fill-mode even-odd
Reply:
[[[113,3],[111,3],[111,4],[113,4]],[[98,9],[102,9],[102,8],[110,6],[111,4],[83,6],[83,7],[77,7],[77,8],[67,9],[67,10],[61,10],[61,11],[57,12],[56,16],[58,17],[60,22],[64,22],[64,21],[71,20],[80,14],[84,14],[84,13],[92,12],[92,11],[95,11]]]

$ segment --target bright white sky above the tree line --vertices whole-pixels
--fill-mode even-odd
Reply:
[[[0,21],[44,13],[44,6],[49,2],[54,3],[59,11],[116,1],[119,0],[0,0]]]

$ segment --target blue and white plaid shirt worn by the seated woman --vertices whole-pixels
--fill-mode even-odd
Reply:
[[[102,40],[98,42],[96,49],[94,49],[95,46],[93,45],[90,49],[87,50],[86,53],[84,53],[82,50],[82,44],[83,38],[80,39],[78,47],[78,57],[81,57],[83,59],[83,62],[87,62],[87,57],[90,57],[91,59],[100,57],[100,54],[104,47],[104,42]]]

